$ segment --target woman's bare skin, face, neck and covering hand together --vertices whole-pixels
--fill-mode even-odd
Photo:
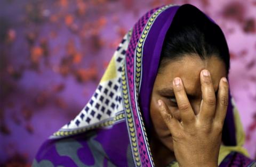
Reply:
[[[227,112],[225,64],[215,56],[183,56],[157,74],[150,102],[156,166],[218,166],[221,132]]]

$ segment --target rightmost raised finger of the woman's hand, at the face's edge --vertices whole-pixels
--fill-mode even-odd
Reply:
[[[214,120],[224,123],[228,108],[228,81],[225,77],[221,78],[217,95],[217,106]]]

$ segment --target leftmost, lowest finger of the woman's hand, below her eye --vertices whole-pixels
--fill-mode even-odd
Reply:
[[[171,112],[169,111],[168,107],[165,105],[163,101],[158,100],[158,107],[159,107],[159,112],[166,126],[168,127],[168,129],[172,134],[174,134],[175,131],[182,128],[180,122],[171,115]]]

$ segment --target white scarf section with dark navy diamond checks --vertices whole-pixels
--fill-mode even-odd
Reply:
[[[83,110],[63,126],[60,131],[70,131],[86,126],[97,126],[105,120],[114,118],[118,112],[123,111],[121,95],[121,71],[125,60],[125,53],[129,44],[130,34],[127,34],[114,53],[117,76],[114,79],[101,82]]]

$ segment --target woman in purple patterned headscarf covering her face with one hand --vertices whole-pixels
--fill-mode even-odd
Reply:
[[[157,7],[126,34],[90,101],[33,166],[255,166],[228,71],[217,24],[189,4]]]

